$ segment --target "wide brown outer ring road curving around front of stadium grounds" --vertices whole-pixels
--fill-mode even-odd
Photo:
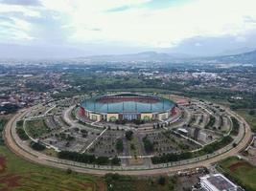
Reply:
[[[6,140],[7,146],[12,150],[14,154],[17,156],[27,159],[29,161],[39,163],[42,165],[47,165],[55,168],[60,168],[60,169],[72,169],[74,171],[80,172],[80,173],[86,173],[86,174],[94,174],[94,175],[105,175],[106,173],[119,173],[122,175],[157,175],[157,174],[169,174],[169,173],[174,173],[177,171],[183,171],[186,169],[192,169],[192,168],[197,168],[201,166],[210,166],[211,164],[220,161],[221,159],[225,159],[230,156],[235,156],[237,155],[240,151],[242,151],[247,143],[250,141],[251,138],[251,131],[249,125],[246,123],[243,117],[239,117],[232,111],[228,110],[229,114],[236,116],[240,119],[242,123],[244,123],[244,132],[242,140],[238,143],[238,145],[234,148],[231,148],[230,150],[221,153],[220,155],[214,156],[209,159],[204,159],[204,160],[198,160],[193,163],[187,163],[187,164],[182,164],[182,165],[176,165],[176,166],[170,166],[170,167],[162,167],[162,168],[155,168],[155,169],[139,169],[139,170],[111,170],[111,169],[92,169],[92,168],[84,168],[80,166],[75,166],[71,165],[72,161],[70,162],[71,164],[64,164],[64,163],[58,163],[56,161],[56,158],[46,156],[44,154],[35,152],[34,150],[30,149],[28,146],[27,147],[20,147],[19,144],[22,143],[21,140],[17,141],[19,139],[17,135],[15,134],[14,131],[14,122],[17,118],[22,117],[24,113],[18,112],[16,115],[14,115],[9,122],[6,125],[5,131],[4,131],[4,137]],[[12,128],[13,127],[13,128]]]

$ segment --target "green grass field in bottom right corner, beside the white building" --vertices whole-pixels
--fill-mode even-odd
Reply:
[[[256,190],[256,167],[243,159],[236,157],[224,159],[220,162],[220,171],[235,180],[246,191]]]

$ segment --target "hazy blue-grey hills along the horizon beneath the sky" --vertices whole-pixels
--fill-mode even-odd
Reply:
[[[192,57],[186,54],[178,53],[130,53],[130,54],[106,54],[92,55],[76,58],[78,61],[89,63],[98,62],[172,62],[172,63],[190,63],[190,64],[251,64],[256,66],[256,50],[248,53],[239,53],[231,55],[218,55],[206,57]]]

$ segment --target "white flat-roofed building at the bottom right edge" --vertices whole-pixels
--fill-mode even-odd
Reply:
[[[199,178],[200,185],[205,191],[237,191],[241,187],[228,180],[221,174],[211,174]]]

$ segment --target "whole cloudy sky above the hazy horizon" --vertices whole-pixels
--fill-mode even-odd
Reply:
[[[255,0],[0,0],[0,57],[254,48]]]

